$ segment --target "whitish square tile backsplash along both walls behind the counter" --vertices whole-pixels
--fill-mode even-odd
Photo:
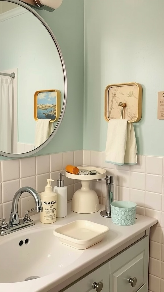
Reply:
[[[155,283],[161,290],[164,284],[164,159],[138,155],[137,161],[137,165],[115,166],[105,162],[104,152],[90,150],[0,161],[0,217],[9,220],[13,196],[20,187],[31,186],[40,193],[45,190],[47,178],[54,180],[54,187],[59,172],[65,173],[67,164],[103,167],[107,175],[115,176],[114,199],[134,201],[138,214],[158,219],[150,234],[149,291],[156,292]],[[69,201],[81,188],[81,182],[66,177],[64,181]],[[105,204],[105,182],[92,181],[91,187],[100,203]],[[31,208],[34,208],[33,198],[28,193],[22,194],[18,206],[20,216]]]

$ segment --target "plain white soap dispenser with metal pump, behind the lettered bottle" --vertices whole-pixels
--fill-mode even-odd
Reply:
[[[63,173],[59,173],[59,179],[56,182],[56,186],[53,191],[57,193],[57,218],[63,218],[67,216],[67,186],[64,186],[64,180],[62,180]]]

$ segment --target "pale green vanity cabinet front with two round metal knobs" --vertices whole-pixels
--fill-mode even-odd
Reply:
[[[145,235],[62,292],[147,292],[148,263],[149,235]]]

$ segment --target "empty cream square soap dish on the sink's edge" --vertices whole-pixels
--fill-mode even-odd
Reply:
[[[109,228],[87,220],[76,220],[54,229],[53,234],[66,245],[86,249],[101,241]]]

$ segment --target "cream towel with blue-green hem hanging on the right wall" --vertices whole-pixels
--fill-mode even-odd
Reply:
[[[132,123],[127,119],[112,119],[108,123],[105,162],[137,164],[137,145]]]

